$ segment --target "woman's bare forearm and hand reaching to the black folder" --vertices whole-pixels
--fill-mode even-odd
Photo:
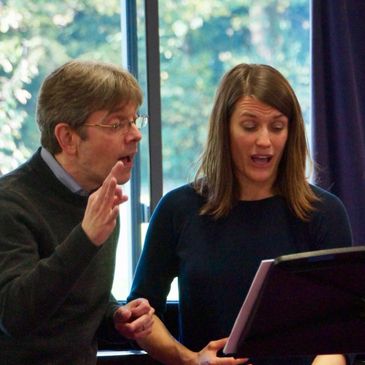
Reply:
[[[179,343],[156,315],[154,315],[151,334],[137,340],[138,344],[151,357],[165,365],[202,365],[212,363],[217,365],[238,365],[246,363],[247,359],[217,357],[217,352],[224,347],[226,341],[227,339],[211,341],[200,352],[193,352]]]

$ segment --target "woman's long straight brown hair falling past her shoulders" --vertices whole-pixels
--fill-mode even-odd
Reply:
[[[270,105],[289,120],[289,132],[275,194],[285,198],[294,214],[308,220],[318,200],[306,178],[309,151],[301,108],[285,77],[268,65],[239,64],[228,71],[216,93],[209,120],[208,139],[194,179],[194,188],[206,197],[201,214],[226,216],[239,197],[230,151],[229,123],[236,102],[244,96]]]

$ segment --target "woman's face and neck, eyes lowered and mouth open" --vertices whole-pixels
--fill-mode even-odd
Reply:
[[[288,138],[288,118],[253,97],[239,99],[229,125],[234,173],[241,200],[273,195]]]

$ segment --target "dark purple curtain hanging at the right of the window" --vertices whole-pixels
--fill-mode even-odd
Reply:
[[[316,182],[344,202],[365,244],[365,1],[312,0]]]

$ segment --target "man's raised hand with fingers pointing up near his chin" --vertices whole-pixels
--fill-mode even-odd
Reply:
[[[96,246],[101,246],[108,239],[117,222],[119,205],[128,199],[117,185],[123,168],[123,162],[118,161],[87,202],[81,226]]]

